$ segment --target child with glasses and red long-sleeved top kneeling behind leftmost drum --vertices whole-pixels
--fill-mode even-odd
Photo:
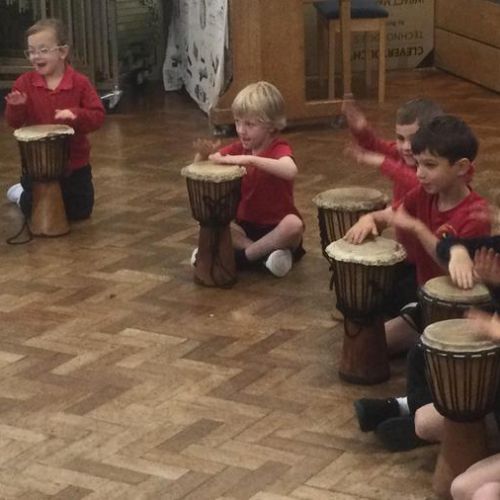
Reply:
[[[5,116],[14,128],[28,125],[69,125],[75,130],[70,142],[69,164],[61,179],[66,215],[69,220],[90,217],[94,206],[94,187],[89,165],[89,132],[104,121],[104,107],[87,77],[67,62],[68,35],[58,19],[43,19],[26,32],[26,57],[33,71],[21,75],[6,96]],[[21,178],[7,191],[9,201],[31,214],[31,180]]]

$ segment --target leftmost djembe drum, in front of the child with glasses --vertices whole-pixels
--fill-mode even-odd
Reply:
[[[59,180],[68,166],[74,133],[67,125],[33,125],[14,131],[21,152],[22,175],[32,181],[29,227],[36,236],[69,232]]]

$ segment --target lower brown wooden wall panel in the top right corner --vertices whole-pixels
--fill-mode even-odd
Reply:
[[[500,92],[500,49],[437,28],[435,64]]]

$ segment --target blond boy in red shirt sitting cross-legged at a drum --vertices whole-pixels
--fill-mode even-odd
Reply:
[[[279,137],[286,125],[283,97],[274,85],[257,82],[238,93],[231,109],[239,141],[209,159],[241,165],[247,171],[231,228],[236,266],[245,269],[263,263],[282,277],[305,253],[304,223],[293,199],[297,166],[290,145]]]

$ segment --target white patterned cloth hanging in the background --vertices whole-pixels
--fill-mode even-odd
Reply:
[[[165,90],[183,86],[206,113],[224,87],[228,0],[173,0],[163,65]]]

